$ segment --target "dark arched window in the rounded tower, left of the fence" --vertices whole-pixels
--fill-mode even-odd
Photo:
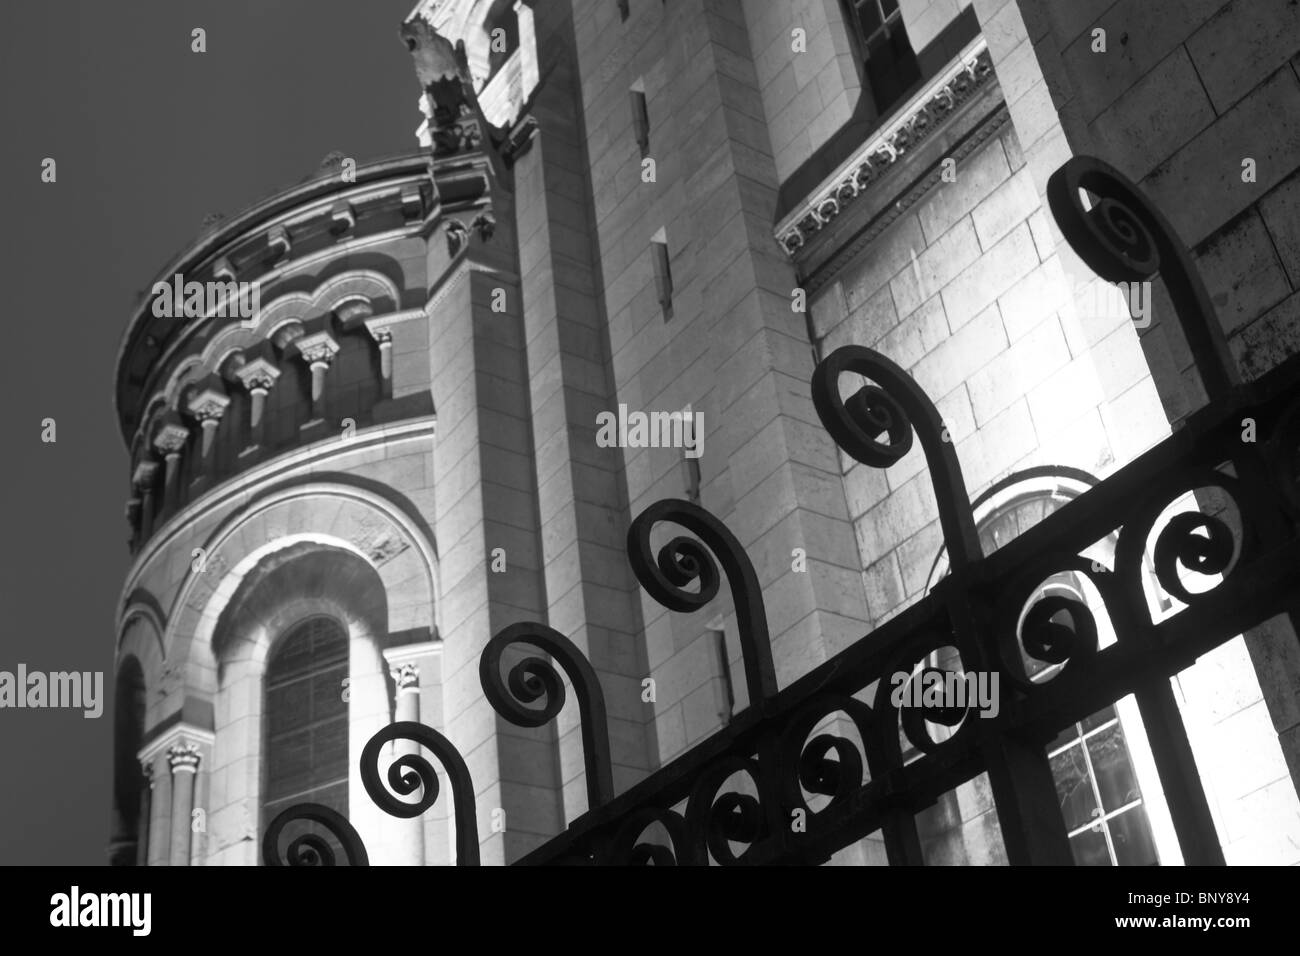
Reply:
[[[308,618],[276,644],[263,711],[263,827],[300,803],[347,813],[347,632],[333,618]]]

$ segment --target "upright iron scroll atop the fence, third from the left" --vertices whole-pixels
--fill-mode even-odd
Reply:
[[[497,713],[519,727],[541,727],[554,721],[564,706],[564,682],[550,661],[536,656],[515,663],[502,682],[502,658],[516,644],[545,650],[573,684],[582,726],[588,803],[592,809],[603,806],[614,799],[614,766],[604,693],[595,670],[573,641],[546,624],[525,620],[497,633],[478,658],[478,679]],[[542,706],[529,706],[537,701]]]

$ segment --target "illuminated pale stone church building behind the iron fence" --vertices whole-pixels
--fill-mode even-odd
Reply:
[[[573,705],[524,730],[484,698],[480,653],[517,620],[590,659],[616,788],[699,743],[746,706],[736,620],[724,596],[672,614],[638,589],[627,528],[660,498],[751,555],[783,684],[919,600],[945,570],[924,458],[836,449],[809,380],[837,346],[935,399],[985,551],[1169,436],[1204,388],[1162,285],[1117,295],[1063,242],[1045,190],[1072,155],[1166,212],[1243,377],[1296,351],[1297,9],[419,4],[419,151],[211,224],[160,281],[216,295],[185,317],[152,297],[124,338],[114,861],[255,864],[312,800],[372,861],[451,862],[446,800],[398,819],[361,788],[394,719],[464,756],[484,862],[520,857],[586,786]],[[620,406],[690,410],[699,444],[606,447]],[[1295,635],[1258,628],[1175,684],[1227,860],[1300,861]],[[1050,753],[1079,862],[1180,861],[1131,702]],[[919,825],[928,862],[1005,860],[982,779]]]

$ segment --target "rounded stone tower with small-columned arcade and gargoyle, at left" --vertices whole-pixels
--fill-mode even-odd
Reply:
[[[537,73],[523,10],[528,57],[514,8],[459,23],[510,25],[477,82],[417,10],[421,148],[332,153],[205,221],[130,320],[114,864],[257,864],[302,803],[346,816],[372,862],[454,862],[446,796],[399,819],[365,793],[361,749],[393,721],[464,754],[485,862],[563,827],[555,754],[576,743],[503,727],[478,683],[494,631],[546,619],[508,169]],[[497,74],[494,124],[474,86]]]

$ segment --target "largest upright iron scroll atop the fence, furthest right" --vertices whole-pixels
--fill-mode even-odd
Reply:
[[[1097,196],[1084,206],[1083,190]],[[1048,204],[1062,235],[1109,282],[1136,282],[1157,272],[1210,401],[1227,395],[1236,364],[1191,254],[1165,216],[1114,166],[1074,156],[1048,179]]]

